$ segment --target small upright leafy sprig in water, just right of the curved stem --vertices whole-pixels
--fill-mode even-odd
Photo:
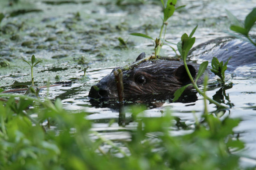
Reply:
[[[225,85],[225,71],[227,70],[227,64],[231,57],[223,64],[219,62],[216,57],[212,59],[212,69],[210,69],[215,75],[217,75],[220,79],[217,79],[219,83]]]

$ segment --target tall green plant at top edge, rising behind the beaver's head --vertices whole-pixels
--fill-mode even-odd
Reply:
[[[174,44],[172,42],[169,42],[169,41],[165,40],[165,34],[166,34],[166,28],[167,28],[167,25],[168,25],[167,20],[173,15],[175,10],[185,6],[185,5],[182,5],[182,6],[179,6],[179,7],[175,8],[176,2],[177,2],[177,0],[167,0],[166,1],[166,5],[165,5],[164,1],[161,0],[161,3],[163,5],[163,18],[162,18],[163,22],[162,22],[162,26],[161,26],[161,29],[160,29],[159,37],[156,38],[156,40],[154,38],[152,38],[152,37],[150,37],[148,35],[142,34],[142,33],[131,33],[130,34],[130,35],[140,36],[140,37],[144,37],[144,38],[148,38],[148,39],[154,40],[155,41],[155,55],[156,56],[159,55],[162,46],[166,45],[163,42],[161,42],[161,40],[164,41],[165,43],[168,43],[168,44]],[[165,27],[165,31],[164,31],[164,34],[163,34],[163,28],[164,27]],[[162,34],[163,34],[163,36],[162,36]],[[174,45],[176,45],[176,44],[174,44]],[[174,50],[173,47],[171,47],[171,48]],[[175,50],[174,50],[174,52],[176,53]]]

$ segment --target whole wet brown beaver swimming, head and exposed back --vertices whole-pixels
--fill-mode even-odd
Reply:
[[[231,37],[210,40],[190,50],[188,68],[192,77],[196,78],[199,64],[192,61],[211,61],[212,57],[217,57],[219,61],[225,62],[230,56],[232,58],[228,68],[231,69],[255,63],[256,47],[251,43]],[[140,61],[139,64],[130,69],[127,69],[129,68],[127,66],[122,69],[125,99],[144,95],[172,95],[177,89],[190,83],[183,62],[166,60],[164,57],[154,60],[143,60],[143,58],[145,58],[145,53],[137,57],[136,62]],[[113,73],[118,68],[120,67],[114,68],[110,74],[92,86],[88,97],[93,99],[118,98]],[[210,77],[212,76],[213,74],[210,74]],[[201,81],[197,83],[200,84]]]

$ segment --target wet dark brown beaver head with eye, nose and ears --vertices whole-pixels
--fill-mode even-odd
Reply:
[[[141,53],[136,61],[143,60]],[[99,83],[92,86],[89,97],[94,99],[118,98],[114,71],[106,75]],[[188,65],[191,75],[195,78],[197,65]],[[180,61],[145,60],[138,65],[123,71],[124,98],[134,96],[174,93],[178,88],[189,84],[190,79]]]

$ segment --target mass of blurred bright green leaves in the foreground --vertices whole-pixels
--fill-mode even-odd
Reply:
[[[0,169],[240,169],[240,156],[229,152],[244,147],[232,131],[238,119],[204,114],[191,133],[173,136],[169,111],[136,118],[140,109],[130,108],[137,129],[122,130],[131,140],[111,141],[90,130],[86,113],[66,111],[59,99],[11,97],[0,102]]]

